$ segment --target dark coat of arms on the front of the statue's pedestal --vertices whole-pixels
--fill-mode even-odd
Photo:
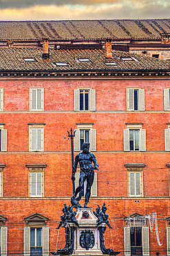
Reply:
[[[94,247],[94,233],[90,230],[84,230],[81,232],[80,245],[82,248],[89,250],[89,248]]]

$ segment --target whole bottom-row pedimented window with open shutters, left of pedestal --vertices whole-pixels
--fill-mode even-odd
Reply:
[[[48,218],[35,213],[24,219],[27,225],[24,228],[24,255],[49,255]]]

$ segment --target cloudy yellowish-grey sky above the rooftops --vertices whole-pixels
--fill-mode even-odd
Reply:
[[[169,19],[170,0],[0,0],[0,20]]]

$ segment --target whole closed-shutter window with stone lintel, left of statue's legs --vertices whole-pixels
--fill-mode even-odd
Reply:
[[[44,196],[45,164],[28,164],[28,196]]]

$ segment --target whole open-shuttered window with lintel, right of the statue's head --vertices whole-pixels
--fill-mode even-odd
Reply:
[[[142,122],[127,122],[124,129],[124,151],[146,151],[146,130]]]

